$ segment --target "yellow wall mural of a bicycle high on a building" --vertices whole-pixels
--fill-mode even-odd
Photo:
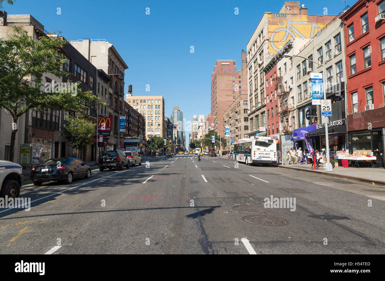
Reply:
[[[278,53],[290,39],[314,37],[332,18],[328,15],[268,15],[269,53]]]

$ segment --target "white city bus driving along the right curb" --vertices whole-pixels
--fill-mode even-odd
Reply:
[[[251,137],[234,142],[234,161],[249,164],[277,162],[277,141],[270,137]]]

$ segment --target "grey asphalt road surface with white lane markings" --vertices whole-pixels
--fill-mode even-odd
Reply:
[[[0,209],[0,253],[385,253],[385,187],[222,157],[148,161],[23,187],[32,207]],[[295,205],[264,208],[271,196]]]

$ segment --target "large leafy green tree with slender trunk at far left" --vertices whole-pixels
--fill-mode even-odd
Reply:
[[[90,120],[92,117],[87,115],[85,105],[99,101],[92,91],[83,92],[77,88],[74,94],[73,91],[67,91],[60,86],[57,86],[55,91],[47,91],[42,84],[44,73],[57,77],[69,75],[63,70],[63,64],[67,60],[62,49],[67,43],[65,40],[58,36],[40,36],[39,40],[33,40],[28,32],[19,26],[14,26],[13,31],[7,40],[0,39],[0,108],[4,108],[12,117],[12,162],[18,131],[17,121],[25,112],[34,108],[44,111],[47,108],[60,107],[67,111],[74,110]],[[104,105],[100,102],[97,104]]]

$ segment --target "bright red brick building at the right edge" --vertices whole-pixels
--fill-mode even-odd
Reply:
[[[382,15],[382,16],[380,16]],[[349,150],[384,167],[385,1],[359,0],[343,13]]]

